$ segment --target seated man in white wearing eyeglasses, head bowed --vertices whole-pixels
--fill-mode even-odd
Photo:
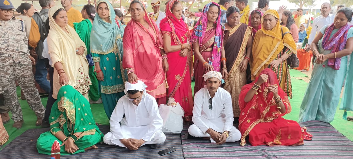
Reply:
[[[110,132],[103,137],[104,143],[137,150],[146,144],[156,148],[156,144],[166,140],[156,99],[146,93],[146,87],[142,81],[125,82],[126,96],[116,104],[109,121]]]

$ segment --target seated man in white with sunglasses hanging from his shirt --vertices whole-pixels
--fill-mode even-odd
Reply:
[[[222,75],[210,71],[204,76],[205,87],[194,97],[192,124],[189,134],[195,137],[209,137],[211,143],[222,144],[240,140],[241,134],[233,126],[233,107],[231,94],[219,87]]]

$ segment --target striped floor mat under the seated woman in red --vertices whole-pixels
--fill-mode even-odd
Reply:
[[[187,127],[181,133],[185,159],[243,159],[243,158],[353,158],[353,142],[328,123],[300,123],[313,135],[312,141],[301,146],[240,146],[240,142],[211,144],[207,140],[186,140]]]

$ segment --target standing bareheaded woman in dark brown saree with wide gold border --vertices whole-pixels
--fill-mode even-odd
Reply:
[[[231,93],[234,118],[238,118],[239,94],[241,87],[246,85],[246,69],[251,56],[252,27],[240,23],[240,10],[235,6],[228,8],[226,17],[224,48],[228,76],[223,88]]]

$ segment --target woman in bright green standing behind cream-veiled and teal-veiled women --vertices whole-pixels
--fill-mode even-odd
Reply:
[[[73,28],[76,30],[81,40],[86,44],[87,53],[91,54],[90,37],[91,37],[92,23],[96,14],[96,10],[95,10],[95,7],[92,5],[84,5],[81,13],[82,13],[82,17],[85,20],[82,20],[80,23],[73,23]],[[94,66],[89,66],[88,75],[91,79],[92,85],[90,85],[90,89],[88,90],[88,95],[90,100],[97,101],[101,98],[101,92],[99,91],[97,74],[94,70],[95,70]]]

